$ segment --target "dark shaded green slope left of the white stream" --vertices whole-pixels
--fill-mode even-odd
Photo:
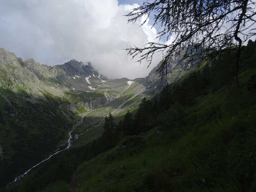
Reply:
[[[52,153],[58,143],[66,141],[72,116],[75,117],[65,108],[68,103],[60,98],[44,93],[46,100],[33,103],[31,95],[20,87],[17,89],[17,92],[0,89],[0,146],[4,153],[0,161],[1,187]]]

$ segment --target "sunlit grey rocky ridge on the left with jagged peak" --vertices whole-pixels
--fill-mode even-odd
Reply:
[[[88,79],[93,84],[88,83]],[[106,78],[92,67],[90,62],[84,64],[70,60],[63,65],[41,65],[34,59],[23,61],[14,53],[0,48],[0,83],[5,87],[20,87],[31,92],[46,90],[51,94],[60,96],[56,86],[63,91],[79,90],[93,92],[98,84],[105,82]]]

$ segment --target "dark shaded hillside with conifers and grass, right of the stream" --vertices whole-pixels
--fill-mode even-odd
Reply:
[[[63,180],[70,191],[255,191],[256,42],[248,44],[239,83],[230,70],[236,52],[220,52],[144,98],[134,115],[116,124],[109,114],[98,139],[53,156],[7,190]]]

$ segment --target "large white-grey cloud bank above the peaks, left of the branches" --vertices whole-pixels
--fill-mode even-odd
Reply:
[[[152,66],[135,63],[125,48],[152,41],[156,29],[147,20],[127,24],[138,4],[117,0],[8,0],[0,2],[0,47],[26,60],[41,64],[63,64],[71,59],[91,61],[109,78],[147,76]]]

